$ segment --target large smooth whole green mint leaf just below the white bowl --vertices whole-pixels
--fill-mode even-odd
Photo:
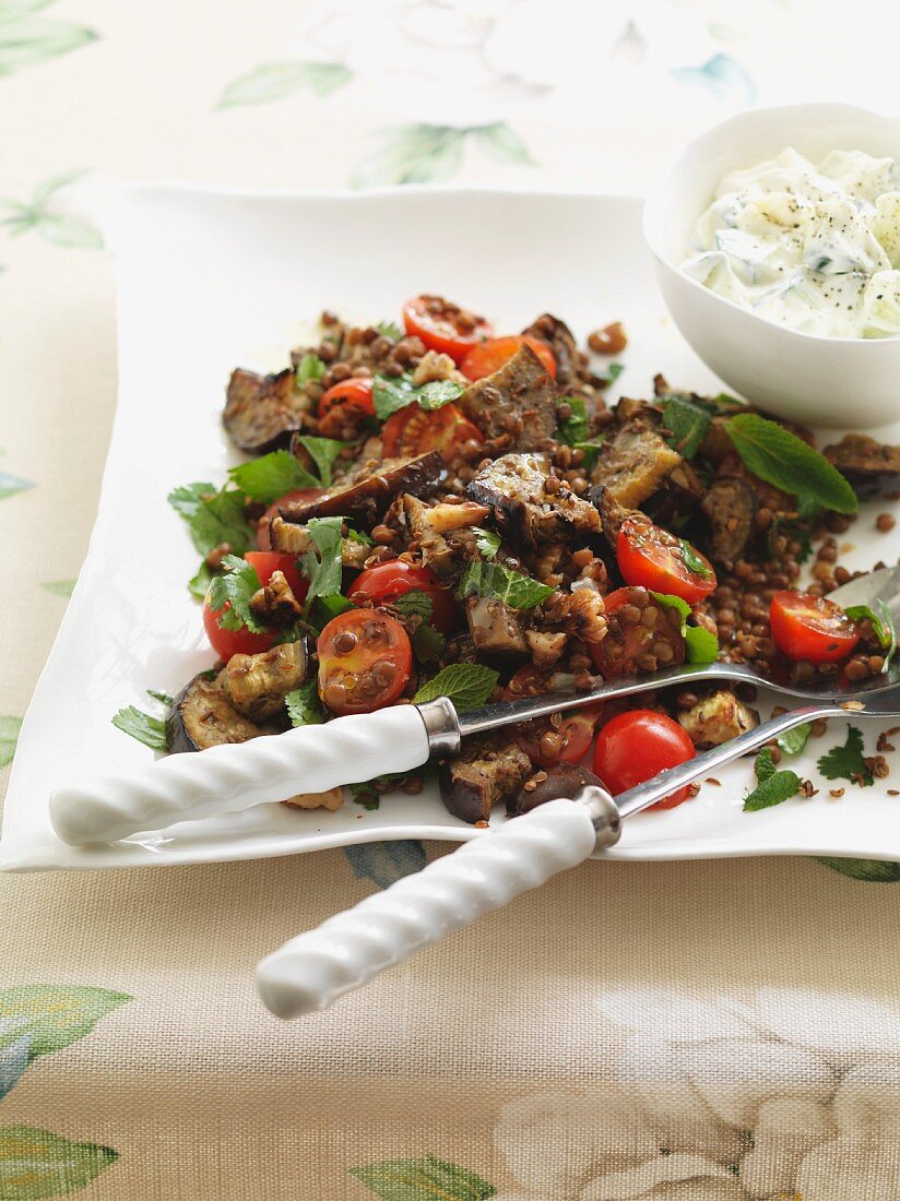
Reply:
[[[857,497],[844,476],[783,425],[757,413],[739,413],[725,428],[746,467],[767,484],[826,509],[857,512]]]

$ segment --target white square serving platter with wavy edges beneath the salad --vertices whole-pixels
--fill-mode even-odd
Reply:
[[[225,479],[240,459],[220,422],[232,368],[284,366],[323,307],[353,319],[397,319],[407,297],[442,292],[490,315],[500,330],[520,329],[549,310],[579,341],[620,319],[630,342],[610,399],[648,395],[657,371],[678,387],[722,390],[664,311],[640,202],[443,187],[291,196],[142,185],[118,193],[101,220],[118,258],[118,411],[88,557],[23,724],[0,867],[147,866],[383,838],[483,837],[452,818],[430,785],[418,796],[391,794],[375,812],[350,799],[335,813],[262,805],[72,848],[53,835],[48,797],[90,772],[149,764],[153,752],[115,729],[112,716],[129,704],[153,709],[148,688],[175,693],[213,664],[199,608],[185,587],[197,556],[166,495],[179,483]],[[895,434],[880,437],[896,441]],[[884,507],[863,507],[841,562],[870,568],[896,560],[900,531],[875,532]],[[765,698],[761,709],[768,713]],[[871,753],[877,723],[860,727]],[[816,772],[816,758],[844,736],[835,723],[792,763],[819,787],[811,800],[743,813],[752,769],[738,763],[693,801],[632,818],[607,854],[900,860],[900,797],[888,794],[898,781],[848,785],[836,800]],[[493,824],[502,820],[497,812]]]

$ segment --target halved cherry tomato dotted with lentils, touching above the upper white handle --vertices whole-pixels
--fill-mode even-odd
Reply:
[[[318,635],[318,695],[332,713],[392,705],[412,673],[412,646],[399,621],[377,609],[348,609]]]

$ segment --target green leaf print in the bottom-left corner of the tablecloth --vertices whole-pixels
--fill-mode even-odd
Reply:
[[[0,1199],[36,1201],[76,1193],[118,1158],[109,1147],[70,1142],[37,1127],[0,1127]]]

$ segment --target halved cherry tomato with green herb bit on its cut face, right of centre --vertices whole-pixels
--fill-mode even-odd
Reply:
[[[622,521],[615,560],[626,584],[667,592],[689,604],[697,604],[716,588],[716,573],[705,555],[649,518]]]

